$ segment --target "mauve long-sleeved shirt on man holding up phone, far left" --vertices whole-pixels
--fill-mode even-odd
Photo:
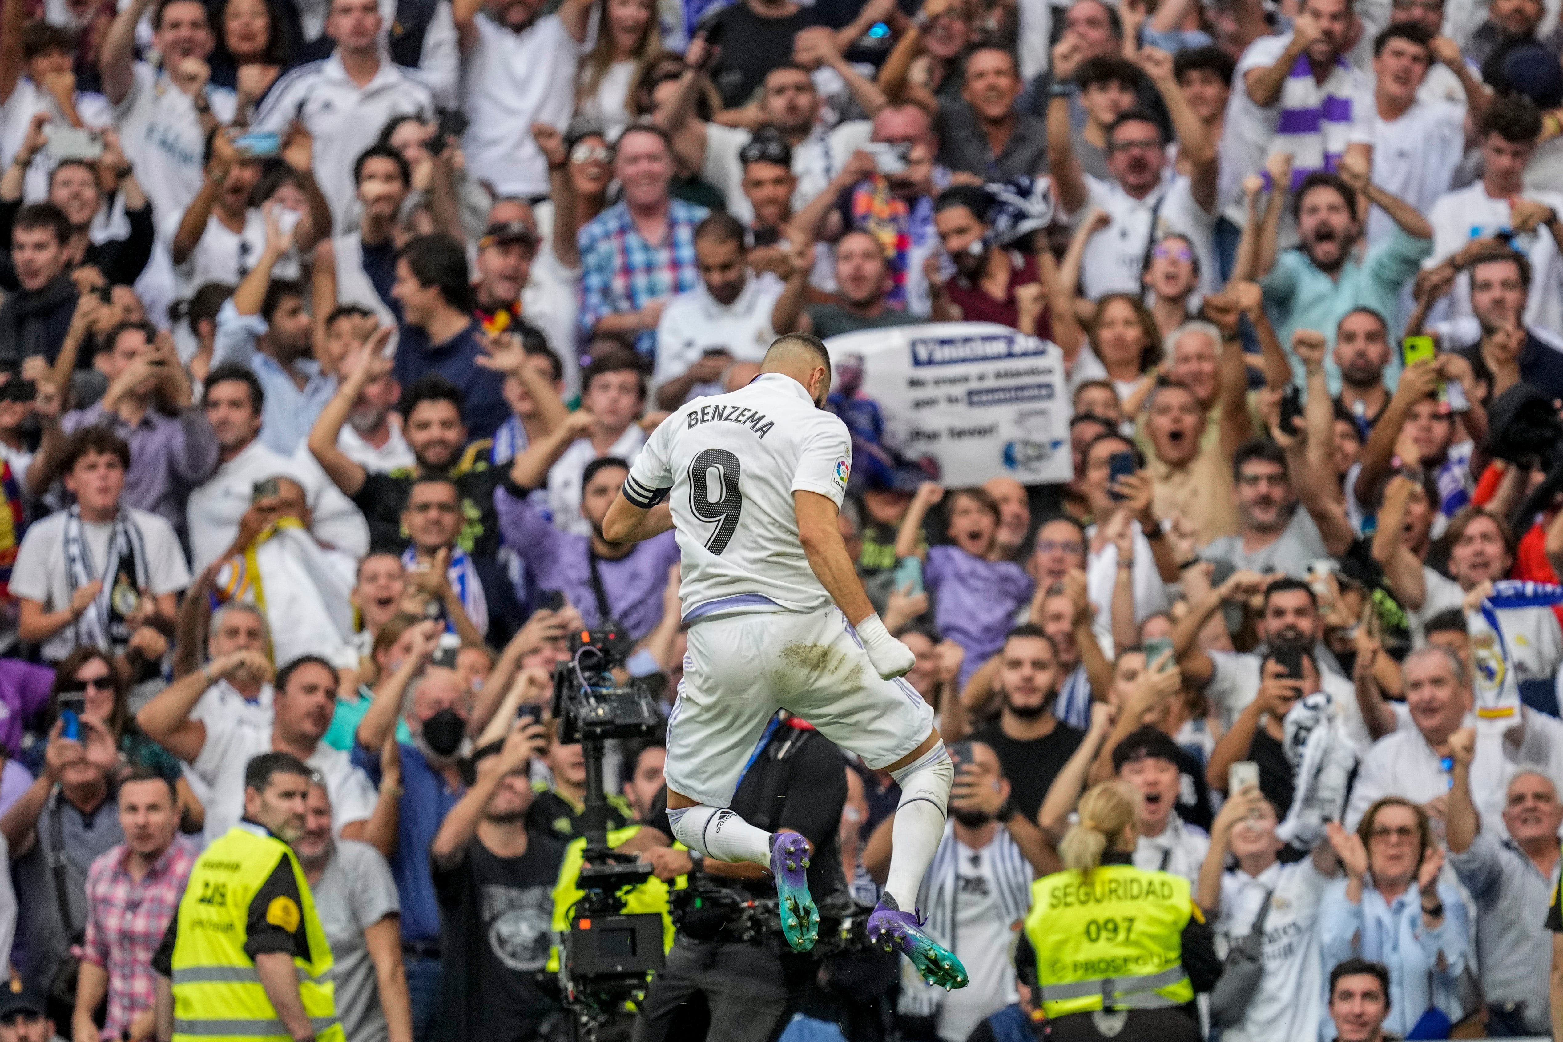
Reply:
[[[217,470],[217,434],[202,408],[192,405],[177,417],[147,409],[136,426],[117,412],[105,414],[100,401],[59,417],[66,434],[75,434],[89,423],[106,426],[130,445],[130,470],[125,472],[120,501],[161,516],[183,536],[184,500],[191,489],[205,484]]]

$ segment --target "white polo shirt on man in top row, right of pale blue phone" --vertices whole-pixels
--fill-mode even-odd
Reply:
[[[255,130],[286,136],[294,120],[303,123],[314,137],[314,180],[333,225],[345,228],[358,202],[353,164],[397,116],[435,117],[435,92],[416,69],[381,58],[374,78],[359,87],[331,52],[277,80],[255,112]]]

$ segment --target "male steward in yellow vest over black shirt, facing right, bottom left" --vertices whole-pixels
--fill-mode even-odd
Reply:
[[[311,775],[289,753],[252,759],[244,819],[195,861],[172,931],[173,1042],[345,1042],[331,947],[291,847]]]

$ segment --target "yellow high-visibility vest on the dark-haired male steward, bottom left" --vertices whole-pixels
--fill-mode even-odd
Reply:
[[[288,844],[253,825],[228,830],[195,861],[180,900],[173,940],[175,1042],[292,1042],[245,955],[250,901],[286,858],[299,883],[299,906],[272,900],[267,922],[283,930],[305,925],[309,958],[294,956],[299,997],[319,1042],[345,1042],[336,1019],[331,945],[314,911],[309,884]]]

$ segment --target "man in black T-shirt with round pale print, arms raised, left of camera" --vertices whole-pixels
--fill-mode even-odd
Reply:
[[[444,972],[433,1037],[531,1039],[563,1012],[538,986],[564,845],[527,826],[527,770],[547,747],[522,722],[445,815],[428,856],[442,915]]]

